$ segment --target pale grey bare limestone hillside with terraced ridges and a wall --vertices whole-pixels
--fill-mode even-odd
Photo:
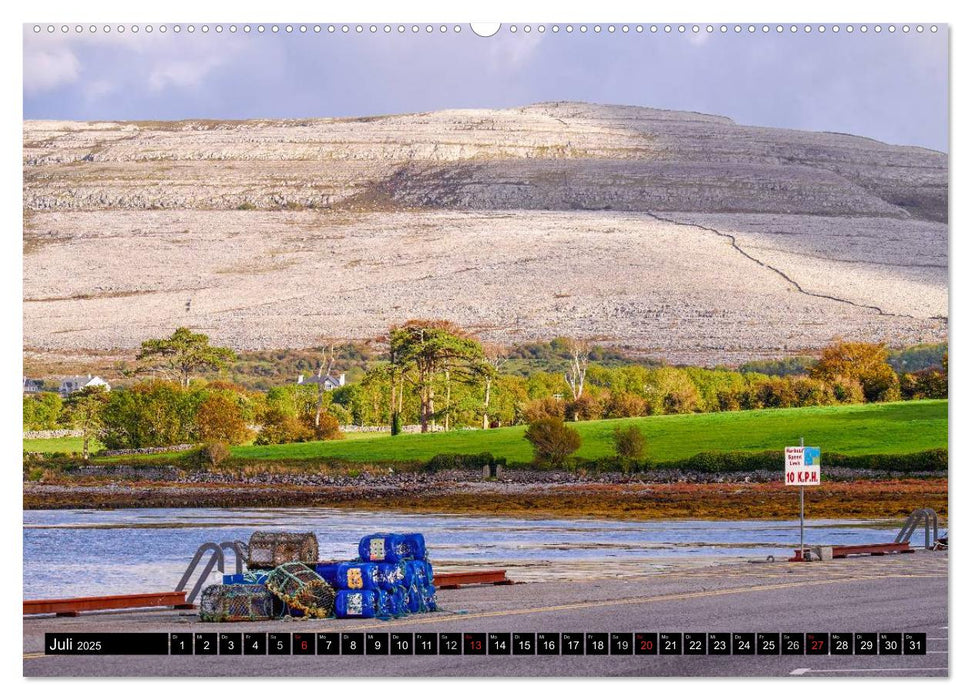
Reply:
[[[934,341],[947,178],[925,149],[578,103],[25,122],[25,346],[303,347],[416,316],[705,363]]]

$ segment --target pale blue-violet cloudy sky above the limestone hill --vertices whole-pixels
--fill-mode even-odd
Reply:
[[[948,32],[80,34],[24,27],[24,118],[365,116],[551,100],[720,114],[948,150]],[[171,27],[172,25],[169,25]],[[925,25],[927,26],[927,25]],[[606,27],[606,25],[604,25]]]

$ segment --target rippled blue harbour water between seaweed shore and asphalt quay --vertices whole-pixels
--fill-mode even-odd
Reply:
[[[806,542],[890,542],[898,527],[814,520]],[[519,580],[568,577],[591,567],[643,573],[687,557],[779,558],[799,543],[798,521],[526,520],[330,508],[30,510],[24,512],[24,598],[172,590],[200,544],[247,541],[258,529],[313,531],[322,560],[356,557],[358,540],[371,532],[421,532],[437,565],[499,565]],[[214,574],[212,580],[220,579]]]

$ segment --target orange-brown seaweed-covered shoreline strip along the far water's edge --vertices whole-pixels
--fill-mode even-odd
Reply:
[[[514,517],[623,520],[788,520],[798,491],[779,481],[718,483],[515,483],[285,485],[101,481],[23,486],[24,510],[329,507]],[[948,513],[946,478],[824,482],[806,489],[813,518],[906,517],[918,507]]]

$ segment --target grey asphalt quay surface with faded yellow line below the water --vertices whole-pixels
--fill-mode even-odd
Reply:
[[[441,591],[400,620],[212,625],[193,613],[24,621],[27,676],[946,676],[947,554],[705,567]],[[924,632],[925,656],[45,656],[45,632]]]

